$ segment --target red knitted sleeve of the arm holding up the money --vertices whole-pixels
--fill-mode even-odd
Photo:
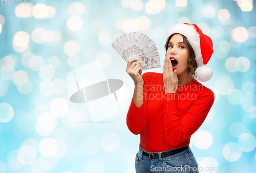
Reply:
[[[132,102],[130,108],[128,110],[126,116],[126,124],[128,129],[135,135],[140,134],[146,127],[147,117],[146,117],[146,105],[147,105],[147,98],[149,92],[150,82],[152,80],[154,73],[153,72],[146,72],[143,73],[143,104],[140,107],[137,107],[136,104]]]

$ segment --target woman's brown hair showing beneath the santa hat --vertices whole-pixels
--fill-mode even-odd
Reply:
[[[175,35],[175,34],[179,34],[179,33],[174,33],[172,35],[170,35],[165,43],[165,51],[167,52],[168,50],[168,44],[170,39]],[[181,34],[182,35],[182,34]],[[187,46],[187,50],[188,50],[188,58],[187,58],[187,73],[191,74],[191,75],[195,75],[195,69],[197,68],[197,62],[196,62],[196,55],[195,52],[193,50],[193,47],[191,46],[191,44],[188,42],[187,38],[182,35],[183,37],[183,42],[185,43],[185,45]],[[166,54],[165,54],[166,56]]]

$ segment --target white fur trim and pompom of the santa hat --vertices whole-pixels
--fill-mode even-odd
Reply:
[[[172,28],[168,29],[165,42],[167,41],[170,35],[175,33],[184,35],[187,38],[188,42],[193,47],[193,50],[196,55],[197,66],[198,66],[198,68],[195,71],[195,77],[197,77],[201,82],[209,81],[213,76],[213,72],[211,68],[203,64],[203,57],[201,54],[201,47],[200,47],[200,37],[195,27],[193,25],[188,25],[184,23],[176,24]]]

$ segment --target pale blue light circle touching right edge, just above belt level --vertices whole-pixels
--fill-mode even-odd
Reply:
[[[243,152],[251,152],[256,146],[256,138],[251,133],[243,133],[238,138],[238,144]]]

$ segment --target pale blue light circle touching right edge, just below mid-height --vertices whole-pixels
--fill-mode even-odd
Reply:
[[[253,93],[246,93],[242,96],[240,103],[242,109],[246,112],[254,112],[255,110],[253,110],[252,108],[256,107],[256,95]]]

